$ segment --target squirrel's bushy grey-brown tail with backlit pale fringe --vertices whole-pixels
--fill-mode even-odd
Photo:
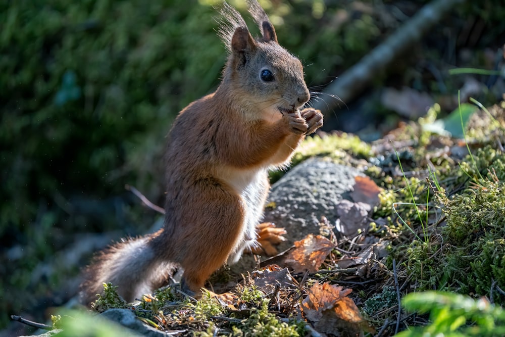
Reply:
[[[102,293],[103,283],[107,282],[117,285],[118,294],[128,303],[167,283],[175,266],[160,262],[150,244],[155,236],[128,239],[95,256],[84,271],[80,302],[89,306],[96,300],[96,294]]]

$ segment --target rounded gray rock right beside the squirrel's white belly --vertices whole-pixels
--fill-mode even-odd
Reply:
[[[338,218],[337,205],[350,199],[358,169],[335,164],[323,158],[311,158],[295,166],[277,181],[270,191],[265,222],[286,228],[286,242],[280,250],[307,234],[319,234],[319,222],[325,216],[331,224]]]

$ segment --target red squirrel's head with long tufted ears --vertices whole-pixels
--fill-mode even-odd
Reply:
[[[223,83],[232,85],[242,103],[292,112],[310,99],[301,62],[277,43],[274,26],[257,0],[247,0],[262,36],[253,38],[240,14],[227,3],[219,35],[228,51]]]

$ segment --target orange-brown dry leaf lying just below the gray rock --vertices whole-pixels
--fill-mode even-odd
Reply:
[[[335,247],[326,237],[314,234],[295,241],[294,246],[294,250],[288,253],[284,262],[296,273],[318,271],[326,256]]]

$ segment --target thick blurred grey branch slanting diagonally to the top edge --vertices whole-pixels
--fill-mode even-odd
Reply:
[[[419,41],[455,5],[463,2],[464,0],[434,0],[425,5],[414,17],[401,25],[384,42],[324,90],[330,97],[338,97],[339,101],[316,101],[314,108],[328,115],[338,102],[348,102],[356,97],[387,65]]]

